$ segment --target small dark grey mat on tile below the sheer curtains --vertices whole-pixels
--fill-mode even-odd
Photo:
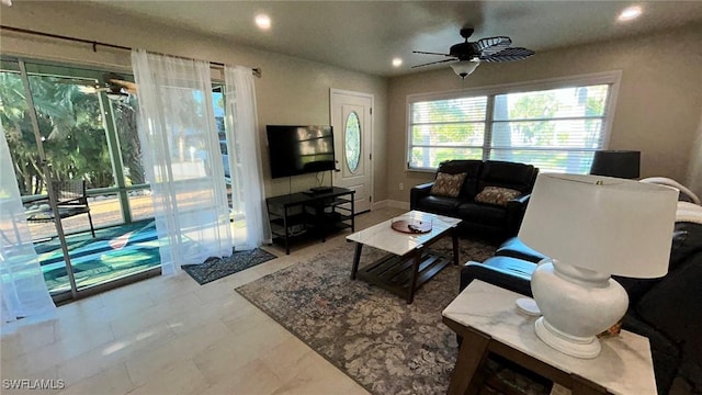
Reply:
[[[181,268],[200,285],[204,285],[274,258],[276,258],[274,255],[254,248],[247,251],[234,251],[227,258],[208,258],[201,264],[183,264]]]

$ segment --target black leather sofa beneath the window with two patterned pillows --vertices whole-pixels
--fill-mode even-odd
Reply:
[[[465,173],[457,196],[432,194],[432,187],[439,173]],[[411,210],[461,218],[461,228],[464,230],[503,239],[517,234],[537,173],[539,169],[531,165],[508,161],[444,161],[439,165],[434,182],[411,189],[409,206]],[[519,195],[506,205],[476,202],[476,195],[486,187],[507,188],[518,191]]]

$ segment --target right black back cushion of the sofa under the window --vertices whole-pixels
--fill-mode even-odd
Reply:
[[[483,163],[478,190],[485,187],[503,187],[520,191],[531,192],[536,178],[536,169],[531,165],[486,160]]]

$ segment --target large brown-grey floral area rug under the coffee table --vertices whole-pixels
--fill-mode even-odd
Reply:
[[[495,247],[461,240],[461,262],[483,261]],[[374,394],[445,394],[457,354],[441,312],[458,293],[449,266],[415,302],[350,280],[353,244],[237,287],[269,316]],[[448,256],[450,239],[434,245]],[[361,266],[382,256],[364,247]]]

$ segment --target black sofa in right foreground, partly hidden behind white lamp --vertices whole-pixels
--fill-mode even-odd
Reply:
[[[468,262],[461,272],[461,290],[478,279],[532,296],[530,279],[545,258],[511,238],[483,263]],[[630,298],[623,329],[650,342],[659,394],[668,394],[673,380],[702,393],[702,224],[677,223],[668,274],[660,279],[616,278]]]

